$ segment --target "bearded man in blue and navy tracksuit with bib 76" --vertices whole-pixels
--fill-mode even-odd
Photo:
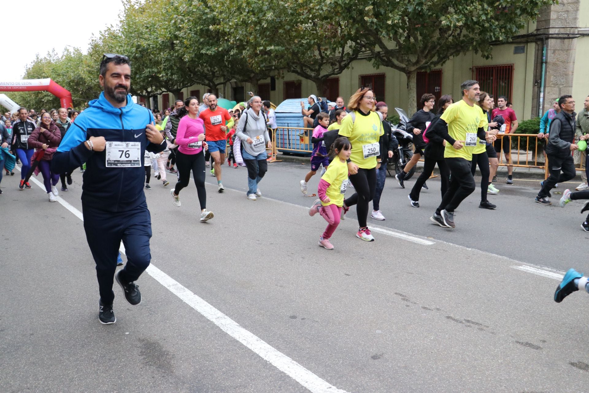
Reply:
[[[98,319],[108,325],[112,311],[113,276],[132,305],[141,302],[135,280],[151,260],[151,216],[143,181],[145,151],[159,153],[166,142],[155,128],[151,111],[134,104],[131,62],[105,54],[98,77],[103,92],[76,118],[52,160],[55,173],[71,172],[86,163],[82,182],[82,214],[88,246],[96,263],[100,290]],[[127,265],[117,269],[123,241]]]

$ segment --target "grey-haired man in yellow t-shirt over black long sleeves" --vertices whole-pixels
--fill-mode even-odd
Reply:
[[[477,147],[477,137],[489,143],[495,140],[495,136],[485,133],[487,117],[481,107],[475,105],[481,94],[478,82],[462,82],[460,89],[462,100],[450,105],[434,125],[434,132],[442,134],[447,142],[444,158],[452,176],[450,187],[430,220],[446,228],[455,227],[454,209],[475,190],[471,160],[472,151]]]

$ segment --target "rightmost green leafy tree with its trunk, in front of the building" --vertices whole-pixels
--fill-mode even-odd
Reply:
[[[507,42],[542,6],[556,0],[326,0],[346,6],[360,41],[376,65],[407,76],[409,113],[415,112],[416,75],[441,67],[450,58],[473,50],[491,57],[491,42]],[[355,4],[355,6],[354,6]]]

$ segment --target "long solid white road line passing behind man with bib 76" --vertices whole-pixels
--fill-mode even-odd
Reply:
[[[21,170],[19,167],[16,168]],[[45,192],[45,186],[39,180],[35,179],[34,177],[31,177],[31,180],[37,184],[37,186],[39,186],[43,192]],[[75,214],[75,216],[80,220],[84,220],[80,210],[66,202],[63,198],[57,197],[57,202],[61,203],[62,206],[70,210],[70,212]],[[121,253],[125,253],[125,247],[123,246],[123,243],[121,243],[120,250]],[[241,344],[247,346],[247,348],[251,349],[265,361],[269,362],[274,367],[284,372],[284,374],[288,375],[290,378],[309,389],[309,391],[313,393],[348,393],[345,390],[338,389],[335,386],[329,384],[327,381],[307,370],[293,359],[284,355],[277,349],[274,349],[258,336],[242,328],[239,323],[233,321],[233,319],[229,318],[229,316],[220,312],[210,305],[210,303],[207,303],[204,299],[195,295],[185,286],[181,285],[166,273],[162,272],[153,264],[150,264],[150,266],[148,266],[147,270],[145,271],[157,282],[170,290],[170,292],[174,293],[174,295],[183,300],[183,302],[203,315],[204,318],[209,319],[209,321],[219,326],[222,331],[241,342]]]

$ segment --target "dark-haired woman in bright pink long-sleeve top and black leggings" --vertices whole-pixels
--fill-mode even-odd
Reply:
[[[206,222],[214,217],[213,212],[207,210],[207,191],[204,189],[204,122],[198,118],[198,99],[188,97],[184,107],[178,110],[178,130],[174,143],[178,145],[176,167],[178,169],[178,183],[170,190],[172,203],[180,207],[180,190],[188,186],[190,171],[194,177],[198,202],[200,202],[200,222]]]

